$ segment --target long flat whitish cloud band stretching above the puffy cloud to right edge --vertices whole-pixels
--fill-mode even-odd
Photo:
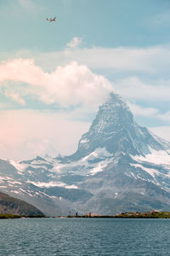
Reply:
[[[67,48],[63,51],[31,53],[20,51],[17,56],[33,57],[38,65],[54,69],[56,63],[65,65],[77,61],[93,69],[111,70],[112,73],[146,73],[157,76],[169,72],[170,46],[148,48]],[[4,53],[3,53],[4,56]]]

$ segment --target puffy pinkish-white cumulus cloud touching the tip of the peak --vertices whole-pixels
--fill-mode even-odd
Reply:
[[[78,65],[77,62],[57,67],[53,73],[45,73],[33,60],[20,58],[6,61],[0,66],[1,86],[4,81],[26,83],[29,86],[25,87],[25,95],[37,96],[46,104],[59,103],[63,106],[99,105],[113,90],[107,79],[92,73],[88,67]],[[10,93],[10,87],[7,84],[5,87],[7,96],[21,102],[23,90],[17,87],[17,92],[13,89],[13,93]]]

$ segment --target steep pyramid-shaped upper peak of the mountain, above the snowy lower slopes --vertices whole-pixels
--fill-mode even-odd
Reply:
[[[105,148],[110,154],[148,154],[150,147],[162,149],[162,144],[146,128],[133,119],[133,113],[122,96],[111,93],[99,111],[89,131],[82,135],[77,152],[70,160],[79,160],[97,148]]]

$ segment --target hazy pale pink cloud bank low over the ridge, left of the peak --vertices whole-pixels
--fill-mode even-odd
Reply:
[[[66,113],[35,110],[1,111],[0,119],[0,155],[5,159],[74,153],[90,125]]]

